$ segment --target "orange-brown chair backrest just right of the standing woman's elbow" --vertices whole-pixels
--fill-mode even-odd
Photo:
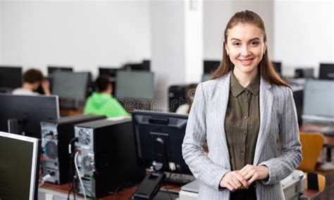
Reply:
[[[297,169],[304,172],[314,172],[316,160],[323,148],[323,135],[319,132],[300,132],[299,139],[302,143],[302,163]]]

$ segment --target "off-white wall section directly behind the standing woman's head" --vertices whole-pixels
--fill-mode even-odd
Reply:
[[[266,25],[268,51],[272,55],[273,0],[225,1],[204,0],[204,59],[221,60],[223,32],[228,20],[238,11],[258,13]]]

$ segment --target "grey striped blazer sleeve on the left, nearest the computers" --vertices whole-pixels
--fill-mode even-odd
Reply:
[[[189,166],[194,177],[206,185],[221,190],[219,187],[222,177],[230,170],[213,163],[204,155],[203,143],[206,139],[206,101],[202,83],[198,85],[194,102],[190,110],[183,140],[182,151],[185,163]]]

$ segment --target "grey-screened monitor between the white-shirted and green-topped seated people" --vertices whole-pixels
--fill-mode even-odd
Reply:
[[[52,80],[52,94],[61,100],[85,101],[89,73],[56,72]]]

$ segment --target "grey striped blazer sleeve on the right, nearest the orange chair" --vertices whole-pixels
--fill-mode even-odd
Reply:
[[[279,136],[282,154],[278,158],[271,158],[259,165],[268,167],[269,177],[261,180],[264,185],[271,185],[283,180],[295,170],[302,162],[302,145],[299,142],[299,128],[297,112],[292,90],[284,87],[285,102],[279,124]]]

